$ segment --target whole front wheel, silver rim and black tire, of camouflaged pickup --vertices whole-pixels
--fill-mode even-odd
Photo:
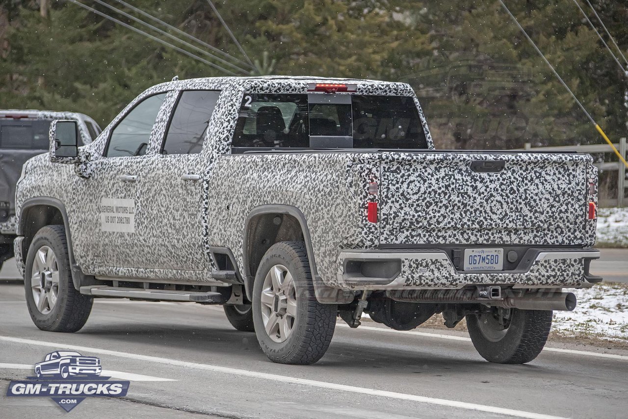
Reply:
[[[87,322],[94,298],[74,288],[63,226],[42,227],[33,237],[24,291],[31,319],[41,330],[76,332]]]

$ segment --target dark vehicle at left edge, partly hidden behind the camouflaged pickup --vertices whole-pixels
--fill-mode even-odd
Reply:
[[[0,268],[13,258],[15,184],[22,165],[48,150],[48,131],[55,119],[77,121],[80,145],[91,143],[101,131],[94,119],[75,112],[0,109]]]

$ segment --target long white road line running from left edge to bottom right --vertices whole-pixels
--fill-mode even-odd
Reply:
[[[171,366],[183,367],[185,369],[201,369],[203,371],[214,371],[216,373],[224,373],[230,375],[244,376],[250,378],[267,379],[270,381],[278,381],[279,383],[291,383],[301,384],[304,386],[333,389],[338,391],[347,391],[349,393],[359,393],[362,395],[381,396],[394,398],[398,400],[418,401],[419,403],[427,403],[430,405],[447,406],[452,408],[485,411],[488,413],[496,413],[498,415],[516,416],[518,418],[528,419],[565,419],[560,416],[543,415],[542,413],[534,413],[523,410],[513,410],[507,408],[501,408],[496,406],[477,405],[475,403],[465,403],[464,401],[446,400],[431,398],[426,396],[408,395],[405,393],[397,393],[396,391],[384,391],[373,388],[348,386],[346,384],[327,383],[325,381],[317,381],[305,378],[295,378],[289,376],[280,376],[277,374],[260,373],[257,371],[249,371],[247,369],[237,369],[230,367],[222,367],[210,364],[198,364],[197,362],[180,361],[178,359],[168,359],[156,356],[131,354],[129,352],[109,351],[109,349],[100,349],[94,347],[75,346],[57,342],[41,342],[40,340],[21,339],[18,337],[0,336],[0,340],[7,342],[16,342],[19,344],[26,344],[32,346],[53,347],[55,349],[71,349],[73,351],[87,352],[89,354],[101,354],[117,356],[129,359],[138,359],[140,361],[158,362],[160,364],[166,364]]]

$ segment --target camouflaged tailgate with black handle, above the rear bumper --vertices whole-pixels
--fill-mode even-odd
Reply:
[[[380,242],[583,245],[592,239],[590,163],[578,154],[382,153]]]

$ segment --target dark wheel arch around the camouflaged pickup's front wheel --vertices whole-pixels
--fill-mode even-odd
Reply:
[[[74,288],[78,290],[81,285],[89,285],[87,282],[90,278],[93,279],[93,277],[85,275],[74,258],[68,212],[63,202],[51,197],[28,199],[24,201],[21,206],[18,220],[18,236],[24,236],[21,249],[24,255],[24,263],[26,263],[28,248],[30,248],[33,237],[35,237],[35,234],[37,234],[41,227],[62,224],[68,243],[68,258],[70,259],[70,270],[72,271],[72,283],[74,284]]]

